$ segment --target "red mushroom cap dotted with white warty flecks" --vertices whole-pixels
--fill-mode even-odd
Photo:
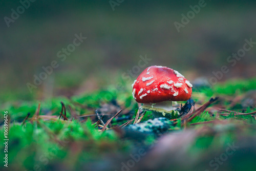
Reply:
[[[151,66],[138,76],[132,87],[133,97],[138,103],[158,103],[188,100],[193,86],[178,71]]]

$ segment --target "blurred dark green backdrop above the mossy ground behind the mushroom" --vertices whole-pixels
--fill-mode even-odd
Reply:
[[[255,77],[256,47],[234,67],[227,62],[245,39],[256,41],[255,1],[205,1],[180,32],[174,22],[181,23],[181,14],[198,1],[118,2],[113,11],[110,1],[35,1],[7,27],[4,17],[21,4],[0,1],[0,101],[70,97],[104,88],[138,65],[140,55],[152,59],[141,71],[162,65],[191,81],[209,78],[223,65],[230,71],[220,81]],[[80,33],[87,39],[61,61],[57,52]],[[59,67],[30,93],[27,83],[53,60]]]

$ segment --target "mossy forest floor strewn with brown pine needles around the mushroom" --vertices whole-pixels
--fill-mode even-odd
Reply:
[[[129,126],[154,125],[130,89],[1,104],[1,170],[255,170],[255,78],[194,87],[192,109],[149,131]]]

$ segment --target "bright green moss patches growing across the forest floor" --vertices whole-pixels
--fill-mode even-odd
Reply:
[[[198,90],[196,93],[203,95],[203,100],[200,96],[197,101],[207,101],[211,96],[236,96],[241,95],[249,90],[254,90],[256,79],[228,81],[226,83],[217,84],[214,88],[205,90]],[[51,113],[52,115],[59,115],[61,111],[60,101],[65,103],[67,107],[67,117],[71,118],[68,105],[76,111],[78,115],[84,115],[93,112],[99,108],[101,103],[109,103],[111,100],[117,100],[124,108],[129,108],[134,111],[133,117],[136,116],[138,104],[132,97],[129,87],[123,87],[120,91],[115,91],[115,87],[109,87],[95,92],[73,96],[70,99],[65,97],[54,97],[45,101],[16,101],[1,104],[2,108],[9,112],[11,123],[9,125],[9,158],[10,168],[15,170],[17,168],[26,168],[33,170],[35,164],[39,164],[42,170],[47,170],[52,164],[67,162],[71,168],[77,167],[84,162],[98,160],[106,154],[126,154],[136,146],[136,140],[121,139],[119,135],[113,131],[108,130],[103,134],[98,132],[93,122],[89,119],[86,122],[78,121],[63,121],[63,120],[39,120],[38,123],[29,121],[24,126],[21,122],[26,117],[27,113],[31,113],[32,118],[37,110],[40,102],[40,115]],[[229,101],[222,99],[219,101],[222,105],[229,105]],[[236,106],[237,111],[241,112],[241,105]],[[246,112],[253,112],[256,109],[247,108]],[[177,132],[184,129],[182,121],[178,115],[170,114],[172,118],[177,118],[175,126],[170,125],[169,131]],[[3,115],[0,116],[3,119]],[[152,112],[147,111],[141,122],[152,119]],[[215,148],[221,150],[221,147],[236,140],[237,126],[243,125],[243,130],[246,134],[254,135],[256,124],[254,117],[250,115],[234,115],[230,113],[228,116],[212,115],[209,112],[202,112],[195,117],[191,122],[187,123],[186,127],[190,129],[199,130],[204,124],[191,125],[191,123],[206,122],[211,120],[225,120],[228,124],[216,125],[212,127],[218,135],[199,136],[194,145],[189,148],[189,152],[193,156],[202,156],[206,152],[212,152]],[[121,123],[126,122],[123,121]],[[113,125],[121,124],[113,120]],[[3,129],[0,130],[3,135]],[[60,141],[60,142],[59,142]],[[148,136],[144,143],[151,145],[158,141],[156,137]],[[0,150],[3,151],[3,143],[0,144]],[[70,158],[70,154],[74,149],[79,148],[77,152],[78,158]],[[50,164],[46,164],[50,163]]]

